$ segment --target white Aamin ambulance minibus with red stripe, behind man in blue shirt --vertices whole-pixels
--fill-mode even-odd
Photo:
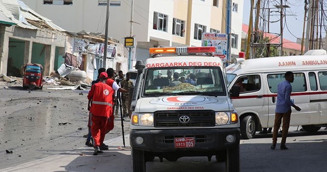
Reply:
[[[318,54],[320,51],[316,51]],[[316,132],[327,126],[327,55],[283,56],[247,59],[236,58],[226,68],[228,88],[240,85],[241,93],[232,97],[240,116],[241,134],[251,139],[262,128],[273,127],[277,84],[285,80],[287,71],[294,73],[290,125],[301,125],[304,131]]]

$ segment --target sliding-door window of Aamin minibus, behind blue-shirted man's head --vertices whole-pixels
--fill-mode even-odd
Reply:
[[[285,73],[267,75],[269,90],[271,93],[277,93],[277,85],[285,80]],[[307,91],[306,78],[303,73],[294,73],[294,81],[291,83],[292,92]]]

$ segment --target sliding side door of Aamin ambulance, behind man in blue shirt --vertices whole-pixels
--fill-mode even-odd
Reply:
[[[273,126],[275,119],[275,109],[277,101],[277,85],[285,81],[285,72],[267,74],[268,81],[268,111],[269,111],[269,126]],[[290,125],[307,125],[310,121],[310,96],[307,88],[305,73],[294,72],[294,82],[292,85],[291,101],[301,108],[301,111],[296,111],[291,107],[292,115]]]

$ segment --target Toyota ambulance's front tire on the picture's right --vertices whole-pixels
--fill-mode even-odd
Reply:
[[[240,145],[227,149],[226,172],[240,171]]]

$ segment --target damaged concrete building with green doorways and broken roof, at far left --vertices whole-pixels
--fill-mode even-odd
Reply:
[[[0,8],[0,74],[21,77],[21,66],[33,62],[49,75],[65,52],[64,30],[20,1],[3,0]]]

